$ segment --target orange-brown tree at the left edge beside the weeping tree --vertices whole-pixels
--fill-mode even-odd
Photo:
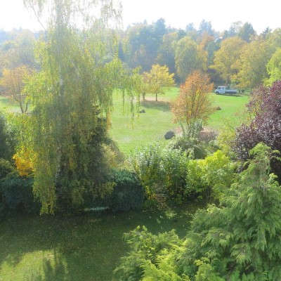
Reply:
[[[26,65],[16,67],[13,70],[3,70],[3,77],[0,79],[0,85],[6,90],[8,96],[20,105],[20,111],[26,113],[28,109],[27,93],[23,91],[25,79],[30,77],[32,70]]]

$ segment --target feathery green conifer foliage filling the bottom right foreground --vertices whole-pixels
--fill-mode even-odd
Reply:
[[[221,207],[198,211],[185,240],[175,233],[125,235],[131,251],[116,270],[124,280],[280,279],[281,189],[270,174],[273,152],[259,143],[225,192]]]

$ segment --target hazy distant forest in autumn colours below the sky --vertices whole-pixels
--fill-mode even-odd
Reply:
[[[112,30],[107,31],[103,41],[112,34]],[[118,53],[126,67],[139,67],[140,72],[148,72],[155,64],[166,65],[178,84],[194,70],[207,72],[215,85],[240,89],[270,85],[281,78],[281,29],[267,27],[257,34],[251,23],[233,22],[228,30],[217,32],[211,22],[202,20],[198,29],[189,23],[182,30],[166,26],[160,18],[152,24],[144,21],[115,32],[116,41],[108,40],[105,63]],[[40,35],[22,29],[0,30],[0,76],[5,68],[37,68],[34,42]]]

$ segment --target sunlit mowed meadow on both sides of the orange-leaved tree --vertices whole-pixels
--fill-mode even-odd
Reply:
[[[125,153],[134,148],[139,148],[151,142],[165,143],[164,134],[166,131],[178,128],[178,124],[173,122],[173,114],[170,110],[171,101],[178,96],[179,89],[172,88],[164,95],[158,96],[158,102],[155,96],[148,95],[146,100],[141,100],[140,110],[144,109],[145,113],[140,113],[131,122],[131,115],[128,108],[122,106],[122,96],[115,93],[114,107],[112,115],[112,128],[110,134],[119,144],[120,150]],[[206,126],[216,130],[221,129],[226,123],[232,126],[240,124],[240,117],[244,110],[244,105],[248,103],[249,96],[226,96],[211,94],[214,107],[220,107],[211,115]],[[126,102],[125,102],[126,105]]]

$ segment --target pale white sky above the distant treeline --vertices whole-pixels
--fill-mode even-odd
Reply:
[[[124,27],[147,20],[164,18],[167,26],[185,29],[193,22],[197,28],[202,20],[210,21],[216,31],[228,30],[231,23],[250,22],[256,32],[266,27],[281,27],[279,0],[122,0]],[[27,28],[40,30],[32,13],[27,12],[22,0],[0,0],[0,29]]]

